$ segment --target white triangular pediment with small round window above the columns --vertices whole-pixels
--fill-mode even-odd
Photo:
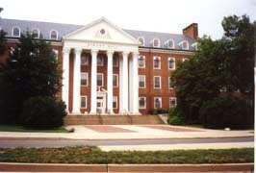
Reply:
[[[140,45],[137,38],[118,28],[105,17],[91,22],[63,37],[64,40],[96,41]]]

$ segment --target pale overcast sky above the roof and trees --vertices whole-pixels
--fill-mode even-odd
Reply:
[[[256,20],[256,0],[0,0],[1,17],[86,25],[105,16],[124,29],[181,34],[192,22],[199,36],[220,38],[223,16]]]

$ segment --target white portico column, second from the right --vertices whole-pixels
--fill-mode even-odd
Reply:
[[[128,110],[128,55],[129,52],[123,52],[122,53],[122,76],[120,76],[120,78],[122,78],[122,87],[121,87],[121,99],[120,99],[120,103],[122,103],[122,110],[120,110],[121,113],[129,113]]]

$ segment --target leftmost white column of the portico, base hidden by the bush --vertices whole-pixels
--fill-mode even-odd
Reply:
[[[62,99],[66,105],[66,111],[68,112],[68,93],[69,93],[69,53],[70,48],[64,47],[63,50],[63,89]]]

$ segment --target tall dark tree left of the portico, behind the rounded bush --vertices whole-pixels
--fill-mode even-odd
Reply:
[[[23,103],[31,97],[55,97],[61,71],[50,43],[21,35],[0,77],[0,114],[6,123],[18,123]]]

